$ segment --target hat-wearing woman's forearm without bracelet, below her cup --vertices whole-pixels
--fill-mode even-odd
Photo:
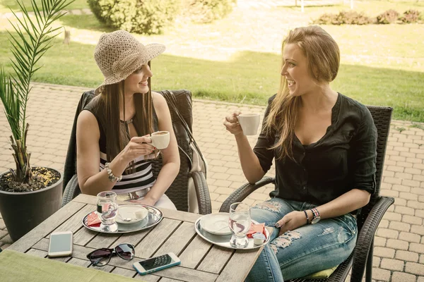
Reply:
[[[160,197],[162,197],[166,190],[170,188],[170,185],[174,182],[178,172],[179,163],[170,161],[167,164],[163,164],[158,178],[151,190],[147,193],[146,198],[153,200],[153,202],[158,202]]]

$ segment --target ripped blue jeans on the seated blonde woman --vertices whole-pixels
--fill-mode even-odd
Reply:
[[[307,202],[272,198],[251,209],[252,219],[273,227],[269,244],[259,255],[246,281],[282,282],[341,264],[351,255],[358,227],[351,214],[322,219],[278,236],[277,221],[285,214],[317,207]]]

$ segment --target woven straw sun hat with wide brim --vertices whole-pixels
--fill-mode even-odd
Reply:
[[[105,33],[100,37],[94,51],[94,59],[105,76],[105,80],[96,88],[95,93],[102,92],[105,85],[124,80],[163,51],[165,45],[144,46],[125,30]]]

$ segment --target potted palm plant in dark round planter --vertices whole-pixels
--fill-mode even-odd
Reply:
[[[0,212],[12,240],[18,240],[39,223],[56,212],[61,203],[62,177],[59,171],[32,167],[27,150],[29,124],[26,109],[31,91],[30,82],[52,39],[61,27],[53,23],[64,16],[68,0],[30,0],[33,13],[28,13],[18,1],[20,15],[12,11],[16,23],[9,22],[8,31],[13,58],[13,71],[6,73],[0,66],[0,99],[10,126],[11,157],[16,168],[0,174]]]

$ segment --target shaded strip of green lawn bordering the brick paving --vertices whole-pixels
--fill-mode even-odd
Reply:
[[[0,33],[0,63],[10,71],[5,36]],[[34,80],[95,87],[102,74],[93,51],[93,45],[64,45],[57,39]],[[186,88],[194,97],[264,105],[278,88],[279,65],[277,54],[252,51],[239,52],[225,62],[162,55],[152,64],[153,89]],[[424,121],[423,72],[342,64],[332,87],[364,104],[393,106],[395,119]]]

